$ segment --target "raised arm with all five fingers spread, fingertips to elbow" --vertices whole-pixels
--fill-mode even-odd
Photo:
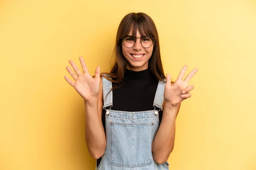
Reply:
[[[67,71],[75,80],[64,76],[66,81],[84,99],[85,106],[85,140],[87,148],[95,159],[101,157],[106,148],[105,131],[102,125],[103,89],[102,77],[100,77],[100,67],[95,70],[95,76],[91,77],[82,57],[79,57],[83,72],[79,70],[75,62],[69,60],[74,71],[67,66]]]

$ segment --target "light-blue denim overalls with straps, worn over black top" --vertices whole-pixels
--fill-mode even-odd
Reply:
[[[102,86],[107,146],[96,170],[169,170],[168,162],[157,164],[154,161],[151,150],[159,126],[157,108],[163,109],[165,82],[158,82],[152,103],[155,109],[138,112],[111,110],[113,96],[112,91],[108,92],[112,82],[102,77]]]

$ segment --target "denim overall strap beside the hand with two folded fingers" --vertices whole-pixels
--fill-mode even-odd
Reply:
[[[164,93],[164,86],[165,86],[166,82],[162,82],[159,80],[158,85],[157,85],[157,91],[155,94],[155,98],[154,98],[154,107],[159,108],[160,110],[163,109],[163,93]]]

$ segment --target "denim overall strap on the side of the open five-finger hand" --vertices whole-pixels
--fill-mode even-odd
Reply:
[[[108,76],[107,74],[104,74],[104,75]],[[105,109],[109,106],[113,106],[113,93],[111,91],[112,82],[103,76],[102,76],[102,88],[103,88],[103,101],[104,101],[103,108]]]

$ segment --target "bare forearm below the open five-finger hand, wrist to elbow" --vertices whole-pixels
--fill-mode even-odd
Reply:
[[[87,148],[95,159],[101,157],[105,152],[105,131],[99,118],[98,100],[90,104],[84,102],[85,106],[85,140]]]

